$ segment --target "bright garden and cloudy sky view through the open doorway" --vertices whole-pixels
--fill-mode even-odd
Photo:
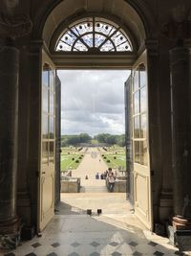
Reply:
[[[126,194],[124,81],[127,74],[127,70],[58,71],[62,81],[62,134],[65,134],[61,140],[61,192],[68,193],[65,199],[72,192],[83,193],[83,197],[87,193],[108,194],[105,175],[109,167],[117,177],[115,193]],[[80,180],[79,190],[77,180]],[[101,196],[96,194],[94,200],[96,197]],[[85,198],[83,201],[85,204]]]

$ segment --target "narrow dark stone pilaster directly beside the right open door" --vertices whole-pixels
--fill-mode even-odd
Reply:
[[[159,222],[159,195],[161,191],[161,151],[159,128],[159,41],[148,38],[147,49],[148,69],[148,119],[149,119],[149,152],[151,176],[151,203],[153,222]]]

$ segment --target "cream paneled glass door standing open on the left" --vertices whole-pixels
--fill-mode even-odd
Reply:
[[[55,69],[43,52],[41,85],[41,166],[39,175],[38,232],[54,216]]]

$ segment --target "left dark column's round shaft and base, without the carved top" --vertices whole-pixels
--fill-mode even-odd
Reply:
[[[16,216],[19,52],[12,46],[4,46],[0,52],[0,248],[13,248],[19,239]]]

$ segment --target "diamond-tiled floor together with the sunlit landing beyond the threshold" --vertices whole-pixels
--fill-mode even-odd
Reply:
[[[78,195],[77,198],[76,195],[68,195],[68,198],[63,196],[63,208],[45,228],[42,237],[34,237],[32,241],[22,243],[16,250],[0,255],[180,255],[167,238],[159,237],[142,226],[128,210],[125,195],[107,195],[87,195],[83,200],[83,195]],[[96,200],[95,197],[100,198]],[[102,208],[100,216],[96,214],[98,205]],[[93,209],[91,217],[86,215],[85,208],[88,206]]]

